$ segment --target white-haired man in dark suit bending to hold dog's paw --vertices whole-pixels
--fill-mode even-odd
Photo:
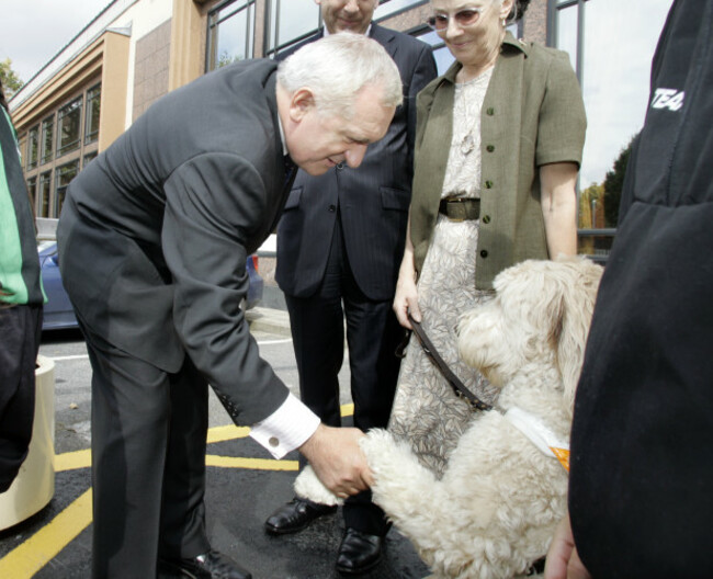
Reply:
[[[400,102],[383,48],[336,35],[171,92],[72,181],[57,236],[93,370],[94,578],[250,577],[205,533],[208,383],[273,456],[299,449],[342,497],[370,484],[362,434],[290,395],[239,304],[293,163],[358,167]]]

